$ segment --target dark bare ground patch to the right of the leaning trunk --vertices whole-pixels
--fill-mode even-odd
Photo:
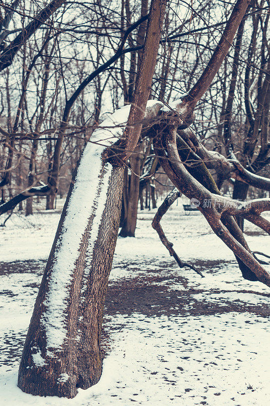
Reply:
[[[224,266],[224,261],[196,261],[195,265],[201,270],[217,272],[218,266]],[[211,270],[212,268],[212,270]],[[161,271],[164,268],[160,269]],[[180,274],[180,270],[179,270]],[[170,286],[181,284],[183,289],[171,289]],[[104,315],[141,313],[146,316],[187,316],[187,315],[215,315],[229,312],[250,312],[258,316],[270,315],[270,306],[264,304],[249,304],[245,301],[222,300],[211,301],[211,295],[219,293],[252,293],[258,296],[270,297],[268,293],[259,293],[253,290],[219,290],[194,289],[187,287],[187,279],[170,272],[164,276],[158,270],[147,269],[134,278],[123,278],[113,281],[107,290]],[[209,300],[196,299],[199,293],[210,294]],[[269,301],[270,302],[270,301]]]

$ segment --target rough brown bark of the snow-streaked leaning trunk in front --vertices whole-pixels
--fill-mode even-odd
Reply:
[[[60,284],[59,276],[53,275],[53,265],[59,260],[58,252],[66,249],[61,239],[64,238],[65,220],[68,219],[67,208],[69,211],[72,210],[69,202],[74,182],[71,183],[24,346],[18,380],[18,386],[24,392],[73,397],[76,388],[86,389],[97,383],[100,378],[102,368],[99,344],[102,312],[117,238],[124,172],[123,167],[112,169],[109,165],[109,169],[108,165],[103,165],[100,172],[97,188],[99,192],[92,206],[92,213],[95,211],[95,214],[89,216],[82,235],[79,256],[66,287],[68,294],[64,309],[67,314],[63,316],[66,337],[62,347],[58,348],[54,343],[58,341],[59,330],[61,334],[61,324],[56,324],[60,306],[57,298],[51,297],[52,293],[50,295],[50,284]],[[105,189],[107,189],[105,208],[103,211],[99,207],[95,209],[97,204],[102,207],[101,199]],[[97,240],[91,242],[89,234],[91,231],[92,236],[95,233],[97,217],[101,217]],[[92,252],[91,243],[92,245],[95,243]],[[90,256],[92,260],[88,263]],[[57,282],[53,278],[56,278]],[[55,316],[55,319],[51,315]]]

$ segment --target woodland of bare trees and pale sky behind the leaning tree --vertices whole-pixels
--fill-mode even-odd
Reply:
[[[56,11],[17,50],[10,65],[5,64],[5,50],[14,49],[18,36],[45,4],[15,0],[1,5],[2,203],[31,186],[47,184],[55,153],[60,163],[57,192],[18,202],[16,210],[26,215],[32,214],[36,201],[53,209],[55,194],[62,197],[67,193],[76,162],[98,123],[107,112],[130,103],[141,55],[137,49],[143,44],[146,28],[146,21],[139,27],[136,22],[149,7],[147,0],[53,3],[58,3]],[[218,0],[192,4],[176,1],[167,8],[150,98],[169,104],[190,90],[216,47],[232,7]],[[251,172],[266,177],[270,161],[268,8],[268,2],[261,1],[248,9],[233,47],[197,106],[192,125],[207,149],[226,157],[233,151]],[[119,52],[129,29],[131,33]],[[57,132],[63,122],[65,137],[56,151]],[[245,139],[254,126],[258,141],[248,150]],[[125,220],[138,182],[141,208],[155,208],[157,196],[170,190],[171,183],[162,175],[157,158],[151,159],[150,141],[144,140],[128,163],[124,236],[134,235],[134,226]],[[234,185],[224,182],[222,171],[212,173],[222,192],[230,189],[232,194]],[[248,191],[247,185],[236,181],[234,198],[245,199],[247,193],[249,198],[267,195],[259,189]],[[136,209],[131,217],[134,223]]]

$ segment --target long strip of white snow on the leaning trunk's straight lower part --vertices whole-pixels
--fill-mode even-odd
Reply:
[[[63,222],[61,239],[56,246],[55,262],[45,300],[47,310],[42,319],[48,349],[60,349],[66,336],[65,312],[68,285],[72,280],[75,262],[80,254],[80,243],[89,217],[95,213],[97,207],[103,149],[104,147],[94,144],[93,148],[92,144],[88,144],[84,150]]]

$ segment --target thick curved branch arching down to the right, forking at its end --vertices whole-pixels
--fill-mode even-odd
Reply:
[[[199,206],[199,210],[215,234],[252,270],[260,282],[270,286],[270,275],[252,253],[244,248],[221,222],[222,215],[237,214],[253,223],[256,222],[261,228],[270,232],[270,223],[260,216],[263,211],[270,210],[270,199],[252,200],[244,205],[243,202],[209,192],[184,167],[177,151],[176,137],[177,123],[174,123],[167,125],[166,133],[159,133],[156,139],[156,153],[165,173],[185,196],[200,201],[202,205]],[[206,207],[203,205],[204,201],[209,202]]]

